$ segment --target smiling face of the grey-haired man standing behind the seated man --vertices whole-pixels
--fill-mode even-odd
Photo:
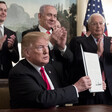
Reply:
[[[54,7],[46,7],[43,14],[39,14],[40,25],[46,30],[54,27],[57,21],[57,11]]]

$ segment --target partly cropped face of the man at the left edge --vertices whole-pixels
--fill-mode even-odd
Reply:
[[[4,22],[7,16],[7,7],[5,4],[0,3],[0,22]]]

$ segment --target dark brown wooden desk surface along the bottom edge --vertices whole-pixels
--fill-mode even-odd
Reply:
[[[111,112],[109,105],[68,106],[50,109],[0,109],[0,112]]]

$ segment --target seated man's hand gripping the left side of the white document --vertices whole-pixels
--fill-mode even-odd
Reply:
[[[91,80],[89,76],[81,77],[74,86],[77,88],[78,92],[85,91],[91,88]]]

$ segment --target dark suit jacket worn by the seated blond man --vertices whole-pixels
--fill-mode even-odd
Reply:
[[[9,89],[11,108],[48,108],[78,101],[75,88],[63,86],[60,74],[51,64],[45,66],[54,90],[46,90],[38,71],[26,59],[21,60],[10,72]]]

